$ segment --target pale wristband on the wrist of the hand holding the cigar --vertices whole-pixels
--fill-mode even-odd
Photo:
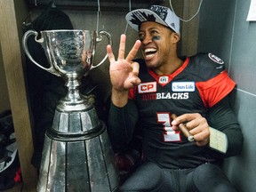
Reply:
[[[224,132],[220,132],[210,127],[209,147],[225,154],[228,150],[227,135]]]

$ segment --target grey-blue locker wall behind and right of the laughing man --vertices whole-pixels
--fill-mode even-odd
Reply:
[[[200,11],[198,52],[213,52],[225,60],[236,82],[233,108],[244,133],[240,156],[224,164],[229,179],[240,192],[255,191],[256,22],[246,21],[250,0],[207,0]]]

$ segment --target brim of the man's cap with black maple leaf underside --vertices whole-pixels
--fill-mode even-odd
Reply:
[[[169,27],[167,23],[165,23],[164,20],[162,20],[155,12],[148,9],[137,9],[132,12],[128,12],[125,16],[125,20],[137,31],[139,31],[140,24],[145,21],[153,21]]]

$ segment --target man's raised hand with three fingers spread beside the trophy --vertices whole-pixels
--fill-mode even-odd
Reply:
[[[125,40],[126,36],[120,37],[118,58],[112,52],[111,45],[108,44],[108,60],[110,62],[109,75],[112,84],[112,90],[115,92],[128,92],[133,86],[140,84],[139,74],[139,63],[132,62],[136,53],[140,49],[140,41],[137,40],[132,47],[132,50],[128,53],[124,59],[125,52]]]

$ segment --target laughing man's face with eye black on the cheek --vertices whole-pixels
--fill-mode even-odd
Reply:
[[[174,52],[172,30],[156,22],[143,22],[140,26],[139,39],[141,52],[148,68],[160,68],[168,64]],[[176,44],[175,44],[176,54]]]

